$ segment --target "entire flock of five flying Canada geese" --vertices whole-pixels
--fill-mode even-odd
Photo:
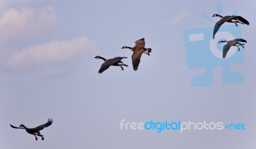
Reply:
[[[218,21],[214,27],[214,31],[213,31],[213,36],[212,38],[214,39],[214,35],[216,34],[216,32],[220,29],[220,26],[222,24],[224,24],[225,22],[230,22],[230,23],[234,23],[237,26],[237,23],[240,24],[246,24],[246,25],[250,25],[249,22],[240,16],[225,16],[222,17],[221,15],[218,14],[214,14],[212,17],[221,17],[220,21]],[[239,46],[242,46],[244,48],[244,44],[243,43],[247,43],[247,41],[245,39],[232,39],[230,41],[219,41],[219,43],[223,43],[226,42],[227,44],[223,46],[223,58],[226,57],[228,50],[230,49],[231,46],[237,46],[238,51],[240,50]],[[241,43],[243,42],[243,43]],[[131,48],[130,46],[123,46],[122,49],[125,48],[129,48],[133,53],[132,53],[132,66],[134,71],[138,70],[138,66],[140,64],[140,59],[141,59],[141,55],[142,53],[147,54],[148,56],[150,55],[150,53],[152,52],[151,48],[145,48],[145,39],[141,38],[138,39],[137,41],[134,42],[135,46],[133,46],[133,48]],[[124,67],[128,67],[127,64],[124,64],[124,62],[122,62],[122,59],[127,59],[127,57],[115,57],[113,59],[104,59],[104,57],[94,57],[95,59],[102,59],[104,60],[104,63],[101,65],[100,69],[99,69],[99,73],[103,73],[106,69],[108,69],[110,66],[120,66],[122,71],[124,71]],[[28,132],[29,134],[33,134],[35,136],[35,139],[37,140],[36,136],[40,136],[42,138],[42,140],[44,140],[44,136],[42,134],[40,134],[40,131],[42,129],[44,129],[45,127],[48,127],[52,124],[53,120],[48,118],[47,123],[43,124],[43,125],[39,125],[38,127],[35,128],[28,128],[25,125],[21,124],[19,127],[15,127],[13,125],[11,125],[11,127],[15,128],[15,129],[25,129],[26,132]]]

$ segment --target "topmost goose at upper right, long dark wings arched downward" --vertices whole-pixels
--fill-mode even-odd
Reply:
[[[250,25],[250,23],[245,18],[243,18],[241,16],[227,15],[225,17],[222,17],[221,15],[214,14],[214,15],[212,15],[212,17],[220,17],[221,18],[214,26],[212,39],[214,39],[216,32],[220,29],[220,26],[222,24],[224,24],[225,22],[234,23],[234,24],[236,24],[236,26],[238,26],[237,23]]]

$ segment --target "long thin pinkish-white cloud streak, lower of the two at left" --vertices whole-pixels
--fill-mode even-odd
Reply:
[[[86,37],[74,38],[70,41],[52,41],[14,53],[8,64],[10,67],[22,69],[63,63],[70,59],[79,59],[91,50],[95,50],[95,43]]]

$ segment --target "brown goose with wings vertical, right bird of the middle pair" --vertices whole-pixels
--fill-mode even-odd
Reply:
[[[150,55],[150,52],[152,51],[151,48],[145,48],[145,39],[141,38],[134,42],[135,46],[133,48],[129,46],[123,46],[122,48],[129,48],[132,53],[132,66],[134,71],[138,70],[139,64],[140,64],[140,58],[142,53],[146,53],[148,56]]]

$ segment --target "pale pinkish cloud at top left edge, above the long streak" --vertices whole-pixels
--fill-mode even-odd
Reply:
[[[52,7],[10,9],[0,18],[0,44],[32,36],[58,22]]]

